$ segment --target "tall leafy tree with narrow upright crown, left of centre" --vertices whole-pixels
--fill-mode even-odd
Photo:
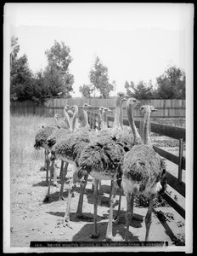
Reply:
[[[74,76],[69,73],[69,65],[72,61],[70,56],[70,48],[64,42],[59,44],[57,41],[51,49],[46,50],[45,54],[48,58],[48,66],[43,76],[44,83],[49,88],[50,96],[69,97],[74,83]]]

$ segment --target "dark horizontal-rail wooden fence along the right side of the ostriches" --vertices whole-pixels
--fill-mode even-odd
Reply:
[[[92,129],[100,129],[100,119],[97,112],[88,111],[88,121]],[[114,117],[109,116],[107,119],[108,126],[111,126],[111,122],[114,121]],[[135,121],[136,126],[140,129],[140,121]],[[129,125],[127,119],[123,119],[123,125]],[[185,183],[182,180],[182,172],[185,170],[185,158],[183,157],[183,142],[185,142],[185,129],[170,125],[160,125],[151,123],[151,131],[159,133],[161,135],[172,137],[179,140],[179,156],[171,154],[166,150],[153,146],[155,151],[160,154],[161,157],[164,157],[166,160],[172,161],[172,163],[178,166],[177,177],[172,175],[170,172],[167,172],[167,183],[173,189],[177,191],[180,195],[185,197]],[[185,218],[185,210],[181,207],[177,201],[174,201],[170,195],[166,192],[162,195],[163,198],[171,205],[183,218]]]

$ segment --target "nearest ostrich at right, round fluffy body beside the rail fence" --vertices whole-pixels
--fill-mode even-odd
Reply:
[[[149,117],[154,107],[143,106],[144,111],[144,142],[146,144],[135,145],[125,154],[122,165],[121,187],[127,199],[126,234],[128,239],[129,223],[132,218],[134,195],[144,195],[149,198],[149,208],[145,217],[146,235],[145,241],[149,241],[149,228],[151,225],[151,213],[156,195],[166,189],[166,169],[160,155],[151,147],[149,137]],[[134,134],[134,129],[132,127]]]

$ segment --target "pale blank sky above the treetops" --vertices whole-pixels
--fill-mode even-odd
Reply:
[[[114,96],[126,80],[149,83],[175,65],[186,72],[193,28],[186,3],[6,3],[4,29],[18,38],[33,73],[47,65],[45,51],[54,41],[70,47],[70,73],[79,86],[89,84],[96,56],[115,80]],[[9,41],[10,42],[10,41]]]

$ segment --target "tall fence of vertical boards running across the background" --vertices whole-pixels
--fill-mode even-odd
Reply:
[[[98,110],[100,106],[110,108],[113,113],[115,110],[115,98],[97,99],[97,98],[68,98],[68,99],[51,99],[42,105],[37,105],[36,102],[11,102],[10,113],[13,114],[37,114],[52,116],[54,113],[63,114],[63,108],[66,104],[77,105],[82,107],[83,103],[87,102],[93,108]],[[153,105],[158,109],[152,114],[152,118],[185,118],[185,100],[142,100],[138,107],[144,104]],[[138,107],[135,108],[135,117],[140,117]],[[123,115],[127,116],[126,102],[123,103]]]

